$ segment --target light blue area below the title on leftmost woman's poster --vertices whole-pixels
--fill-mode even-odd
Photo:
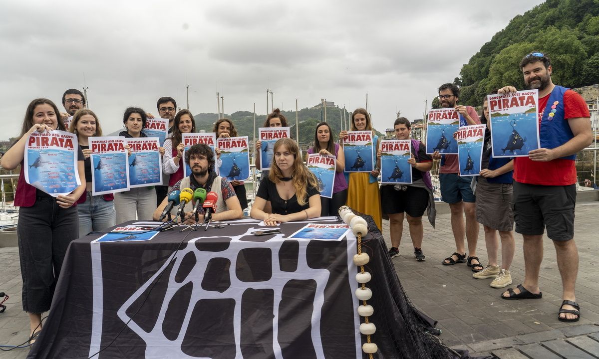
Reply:
[[[68,194],[77,188],[77,172],[73,168],[74,151],[44,149],[28,150],[29,182],[53,195]]]

